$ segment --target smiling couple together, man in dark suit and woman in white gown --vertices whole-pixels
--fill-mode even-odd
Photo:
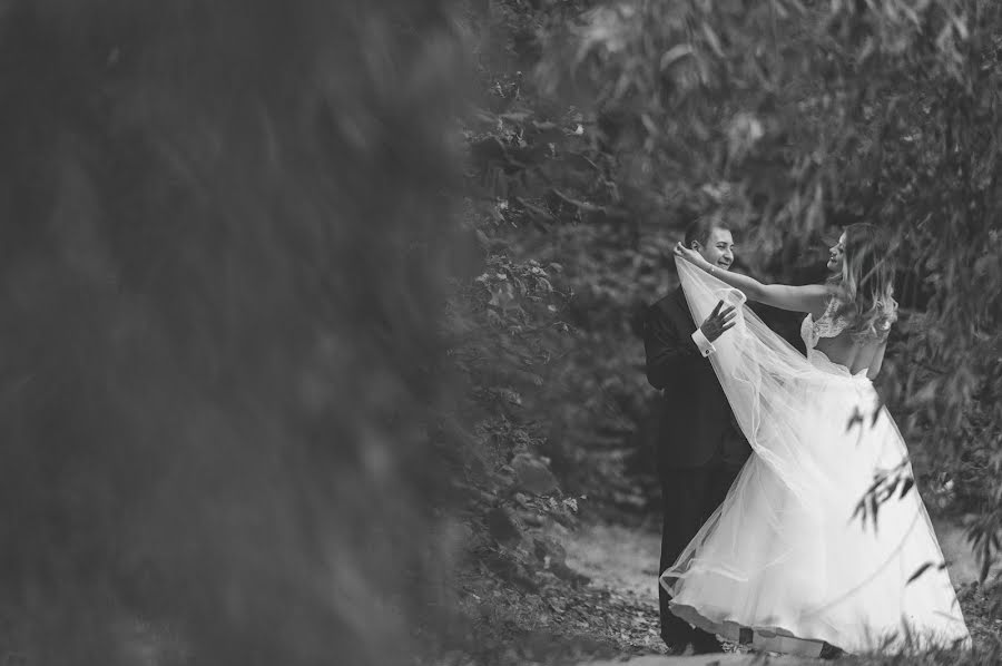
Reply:
[[[943,554],[913,486],[864,523],[878,473],[911,474],[872,380],[896,320],[888,244],[853,224],[824,284],[733,273],[734,241],[703,218],[675,248],[681,285],[645,326],[662,390],[661,636],[672,653],[969,646]],[[806,356],[746,306],[804,313]],[[701,322],[699,326],[695,322]],[[914,575],[924,570],[917,578]]]

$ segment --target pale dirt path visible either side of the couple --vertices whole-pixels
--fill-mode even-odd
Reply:
[[[978,564],[965,543],[963,528],[935,521],[935,529],[947,562],[954,585],[976,579]],[[648,626],[644,641],[652,653],[661,652],[662,645],[657,634],[657,567],[660,538],[656,530],[621,526],[596,525],[578,531],[561,531],[553,535],[567,550],[567,564],[572,569],[591,579],[591,586],[633,597],[638,606],[649,609],[644,621]],[[703,664],[744,665],[754,660],[752,655],[728,654],[711,657],[668,657],[649,655],[635,657],[630,666],[697,666]],[[766,662],[759,656],[756,664],[805,664],[823,663],[816,659],[770,657]],[[591,666],[603,666],[605,662],[592,662]],[[609,665],[612,662],[608,663]]]

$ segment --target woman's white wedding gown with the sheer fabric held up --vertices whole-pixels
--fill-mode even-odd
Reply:
[[[721,298],[744,303],[676,263],[696,321]],[[800,655],[817,655],[823,641],[848,653],[970,645],[917,490],[901,497],[898,488],[875,527],[853,517],[874,474],[906,464],[907,450],[866,372],[852,375],[814,349],[837,325],[807,315],[805,359],[749,308],[736,321],[710,360],[754,454],[662,572],[672,613],[734,641],[752,629],[753,646]]]

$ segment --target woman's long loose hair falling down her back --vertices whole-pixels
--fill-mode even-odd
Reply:
[[[832,278],[836,316],[848,320],[856,340],[885,340],[897,320],[891,244],[881,229],[866,223],[845,228],[842,274]]]

